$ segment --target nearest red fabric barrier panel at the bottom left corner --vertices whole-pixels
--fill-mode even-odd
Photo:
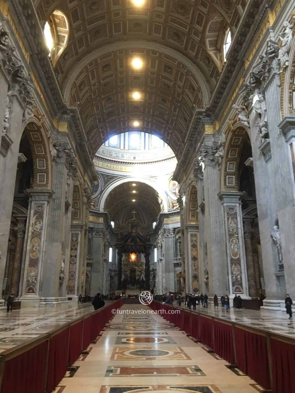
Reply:
[[[2,393],[43,393],[48,341],[4,363]]]

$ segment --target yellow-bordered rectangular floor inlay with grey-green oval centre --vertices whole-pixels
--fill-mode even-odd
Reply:
[[[142,347],[126,349],[114,347],[111,360],[192,360],[180,347],[155,349]]]

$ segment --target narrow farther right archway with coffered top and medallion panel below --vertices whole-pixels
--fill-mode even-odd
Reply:
[[[188,250],[186,283],[190,293],[199,293],[198,193],[194,183],[190,185],[186,198],[186,236]]]

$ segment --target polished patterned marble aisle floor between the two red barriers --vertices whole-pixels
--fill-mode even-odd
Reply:
[[[121,310],[147,310],[124,305]],[[228,369],[160,315],[116,314],[70,367],[55,393],[255,393],[248,376]],[[204,350],[205,349],[205,350]],[[215,356],[212,356],[215,355]]]

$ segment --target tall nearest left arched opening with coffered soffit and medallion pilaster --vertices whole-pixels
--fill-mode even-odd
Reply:
[[[13,269],[9,276],[9,268],[7,268],[8,276],[4,277],[7,283],[10,280],[10,291],[15,298],[20,296],[22,291],[36,293],[37,276],[40,274],[42,231],[46,222],[47,196],[44,203],[38,203],[35,198],[50,193],[51,187],[52,162],[49,142],[44,128],[37,117],[34,117],[24,127],[20,138],[11,215],[11,234],[16,234],[16,240],[13,262],[9,261],[11,250],[10,256],[7,254],[6,259],[6,266],[10,264]],[[29,216],[28,212],[30,212]],[[29,228],[31,231],[28,231]],[[11,239],[10,244],[13,244]],[[26,273],[21,277],[24,264]],[[23,285],[20,286],[20,282],[23,282]]]

